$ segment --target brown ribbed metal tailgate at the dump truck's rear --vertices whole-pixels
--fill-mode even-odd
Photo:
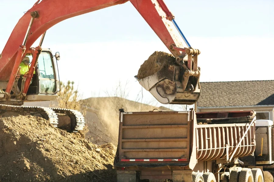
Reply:
[[[121,112],[118,161],[189,161],[190,115]]]

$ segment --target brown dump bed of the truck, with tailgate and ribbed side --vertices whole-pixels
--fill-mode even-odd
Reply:
[[[141,180],[169,179],[175,182],[183,181],[176,180],[183,176],[185,181],[191,180],[195,169],[213,172],[216,168],[218,172],[215,164],[223,164],[223,161],[233,163],[228,160],[233,158],[232,161],[235,161],[235,157],[248,156],[255,151],[254,123],[248,127],[254,117],[253,111],[195,114],[193,110],[120,110],[118,148],[114,161],[118,182],[125,181],[121,178],[125,174],[135,175]],[[237,147],[245,132],[246,136]],[[210,162],[205,166],[202,161]]]

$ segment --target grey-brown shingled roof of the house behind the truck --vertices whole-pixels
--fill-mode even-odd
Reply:
[[[274,80],[200,84],[198,107],[274,105]]]

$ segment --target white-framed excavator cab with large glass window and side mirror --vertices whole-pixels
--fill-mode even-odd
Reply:
[[[32,60],[33,56],[30,51],[26,56]],[[37,66],[35,67],[32,81],[26,94],[26,100],[42,101],[54,100],[57,98],[57,92],[60,91],[57,65],[57,60],[59,59],[59,52],[53,56],[50,49],[42,49],[37,60]]]

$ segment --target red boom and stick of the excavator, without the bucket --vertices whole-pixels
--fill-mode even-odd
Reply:
[[[43,0],[34,5],[16,24],[2,51],[0,57],[0,80],[9,80],[10,75],[6,73],[11,72],[18,48],[24,42],[26,31],[32,18],[31,12],[36,11],[38,15],[34,19],[29,36],[26,39],[26,50],[28,50],[33,43],[47,31],[47,29],[65,19],[125,2],[127,2],[127,0],[90,0],[81,3],[79,3],[78,0]],[[170,49],[169,46],[171,44],[183,47],[181,42],[178,41],[179,38],[174,35],[172,28],[167,28],[170,26],[171,22],[165,18],[165,13],[162,11],[162,16],[159,16],[160,13],[158,13],[154,7],[154,4],[157,3],[156,0],[131,0],[130,2],[135,6],[168,49]],[[159,5],[158,11],[160,11]],[[177,50],[170,49],[170,52],[175,57],[180,55],[180,52]]]

